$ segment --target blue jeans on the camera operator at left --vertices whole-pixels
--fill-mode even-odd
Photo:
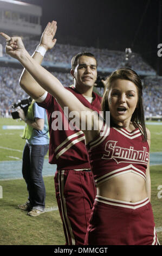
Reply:
[[[22,159],[22,174],[27,184],[29,202],[31,208],[44,210],[46,199],[46,188],[44,186],[42,169],[44,156],[46,156],[49,145],[25,144]]]

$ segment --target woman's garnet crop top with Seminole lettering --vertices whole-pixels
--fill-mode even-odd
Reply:
[[[128,132],[111,127],[102,135],[86,146],[96,185],[128,172],[146,180],[149,147],[142,141],[141,128]]]

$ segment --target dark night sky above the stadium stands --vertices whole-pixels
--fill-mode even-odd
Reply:
[[[161,0],[25,0],[22,2],[42,6],[42,29],[46,27],[48,21],[57,21],[56,38],[61,44],[120,51],[131,47],[155,69],[157,61],[162,62],[162,57],[157,57],[157,46],[162,44],[162,20],[159,20]]]

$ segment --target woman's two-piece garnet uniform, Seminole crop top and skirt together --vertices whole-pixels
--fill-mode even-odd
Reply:
[[[87,144],[96,185],[129,172],[146,180],[149,147],[141,131],[140,125],[132,132],[106,128]],[[97,195],[85,245],[159,245],[149,199],[132,203]]]

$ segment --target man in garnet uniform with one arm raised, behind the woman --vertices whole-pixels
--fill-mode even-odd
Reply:
[[[49,22],[33,58],[41,64],[47,50],[54,47],[56,22]],[[101,97],[93,93],[97,77],[97,62],[91,53],[79,53],[72,58],[74,86],[67,87],[82,103],[94,111],[100,111]],[[90,171],[82,131],[70,127],[56,99],[46,92],[24,69],[20,78],[21,87],[38,105],[46,108],[49,124],[49,163],[57,164],[55,191],[60,216],[63,222],[66,245],[83,245],[90,212],[96,196],[93,174]],[[62,130],[56,129],[56,113],[61,113]]]

